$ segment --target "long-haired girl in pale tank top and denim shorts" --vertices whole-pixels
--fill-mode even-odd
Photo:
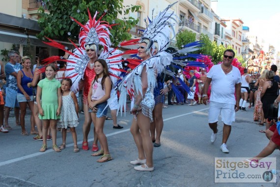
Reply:
[[[107,100],[111,94],[111,79],[108,72],[108,66],[105,60],[99,59],[94,62],[94,71],[96,76],[91,82],[91,87],[87,96],[88,108],[94,124],[95,132],[101,144],[101,150],[91,156],[101,156],[97,162],[106,162],[112,160],[109,153],[106,135],[103,132],[106,114],[108,111]]]

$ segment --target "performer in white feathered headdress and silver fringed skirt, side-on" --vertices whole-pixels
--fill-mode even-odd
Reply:
[[[126,105],[126,93],[134,99],[131,110],[135,115],[131,125],[131,132],[136,142],[139,156],[131,161],[138,171],[153,171],[153,144],[150,136],[150,122],[155,100],[153,90],[156,86],[156,75],[162,72],[172,61],[172,56],[164,50],[169,43],[171,30],[174,31],[172,20],[176,20],[174,12],[168,12],[168,6],[155,17],[144,31],[139,42],[138,57],[143,62],[128,74],[119,84],[120,98],[119,109]]]

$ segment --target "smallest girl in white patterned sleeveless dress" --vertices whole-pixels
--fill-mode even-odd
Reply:
[[[75,127],[79,125],[79,105],[76,95],[70,91],[71,86],[71,79],[62,80],[62,107],[57,127],[62,129],[62,144],[59,146],[59,149],[62,150],[66,147],[66,130],[67,127],[70,127],[74,141],[74,152],[77,153],[79,152],[79,148],[77,145],[77,133]]]

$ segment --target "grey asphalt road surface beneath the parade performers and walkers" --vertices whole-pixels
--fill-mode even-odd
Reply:
[[[83,114],[77,127],[79,153],[73,152],[71,133],[67,133],[65,150],[54,152],[52,142],[48,141],[48,150],[40,153],[42,142],[32,140],[31,135],[22,136],[21,127],[15,126],[15,119],[10,118],[13,129],[0,133],[0,187],[272,187],[273,184],[265,183],[214,183],[214,157],[250,158],[267,145],[265,134],[258,132],[264,127],[252,122],[252,112],[253,109],[248,109],[236,113],[227,143],[229,154],[224,154],[220,151],[222,130],[216,142],[210,142],[208,106],[168,105],[163,109],[162,146],[154,148],[153,172],[136,171],[129,163],[138,157],[129,131],[133,118],[129,113],[126,117],[118,115],[118,124],[124,126],[121,130],[112,130],[112,120],[105,123],[104,131],[114,158],[105,163],[96,162],[99,156],[90,156],[91,151],[81,149]],[[28,119],[29,116],[26,124]],[[218,124],[222,129],[222,123]],[[89,138],[91,145],[92,131]],[[57,145],[61,143],[58,133]],[[280,158],[279,151],[271,157]]]

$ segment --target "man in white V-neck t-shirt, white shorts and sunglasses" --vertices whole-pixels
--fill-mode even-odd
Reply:
[[[235,112],[239,110],[239,100],[241,93],[241,74],[237,67],[231,65],[234,58],[234,51],[226,49],[224,51],[223,63],[214,65],[207,74],[202,92],[203,103],[206,105],[208,88],[212,82],[210,107],[208,113],[208,123],[213,130],[211,142],[217,138],[217,122],[221,113],[224,122],[223,141],[221,150],[223,153],[229,153],[226,141],[231,131],[231,124],[235,121]],[[235,95],[236,100],[235,100]]]

